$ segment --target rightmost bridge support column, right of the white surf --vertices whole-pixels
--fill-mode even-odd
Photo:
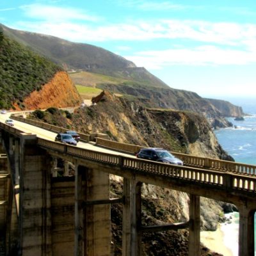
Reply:
[[[254,256],[254,211],[239,207],[239,256]]]

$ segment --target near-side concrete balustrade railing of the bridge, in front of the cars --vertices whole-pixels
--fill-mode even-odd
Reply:
[[[214,186],[220,189],[239,189],[256,193],[256,177],[239,175],[231,172],[221,172],[218,170],[205,170],[189,166],[179,166],[174,164],[157,163],[145,159],[133,157],[116,156],[103,152],[96,152],[84,148],[77,148],[70,145],[62,145],[54,141],[47,141],[38,138],[38,145],[51,148],[65,154],[90,159],[93,161],[113,164],[125,170],[135,170],[141,173],[152,173],[164,177],[172,177],[189,182],[200,183],[207,186]]]

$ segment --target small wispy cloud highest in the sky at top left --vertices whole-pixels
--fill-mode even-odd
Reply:
[[[99,17],[88,15],[84,11],[76,8],[63,8],[44,4],[29,4],[20,6],[20,9],[22,9],[28,17],[51,20],[51,22],[56,22],[58,20],[99,20]]]

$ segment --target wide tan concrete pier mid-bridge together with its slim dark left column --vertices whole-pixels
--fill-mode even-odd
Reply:
[[[86,205],[87,201],[109,200],[109,173],[76,166],[75,254],[109,256],[111,252],[110,205]],[[85,179],[82,179],[82,177]],[[86,183],[83,189],[83,180]],[[84,205],[83,208],[83,201]]]

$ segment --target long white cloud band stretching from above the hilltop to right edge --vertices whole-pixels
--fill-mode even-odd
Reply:
[[[62,10],[62,9],[61,9]],[[35,11],[35,12],[34,12]],[[37,16],[39,10],[36,8],[33,15]],[[256,25],[255,24],[236,24],[223,22],[202,22],[189,20],[156,20],[134,21],[130,23],[119,23],[102,25],[102,23],[95,22],[94,24],[81,24],[70,22],[68,19],[89,19],[84,15],[78,15],[76,12],[64,13],[67,10],[62,10],[54,19],[63,19],[60,22],[52,22],[50,13],[56,10],[49,10],[49,20],[37,23],[37,29],[40,33],[49,35],[58,35],[66,39],[81,40],[81,42],[102,42],[111,40],[154,40],[160,39],[184,39],[193,40],[194,42],[207,42],[212,44],[223,44],[229,46],[244,46],[244,43],[255,40]],[[32,12],[31,10],[29,12]],[[40,10],[41,12],[41,10]],[[38,14],[39,15],[39,14]],[[65,18],[64,18],[65,17]],[[20,22],[25,29],[35,27],[35,22]],[[45,29],[47,28],[47,29]],[[24,29],[24,28],[23,28]],[[57,34],[56,34],[57,32]],[[67,38],[67,36],[69,36]]]

